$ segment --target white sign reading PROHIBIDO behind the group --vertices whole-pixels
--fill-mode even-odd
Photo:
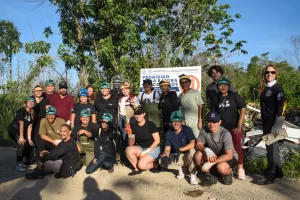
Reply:
[[[153,88],[160,92],[159,82],[163,79],[170,81],[171,91],[177,95],[182,92],[179,84],[179,75],[185,74],[192,80],[191,88],[201,91],[201,66],[194,67],[171,67],[171,68],[147,68],[141,69],[140,92],[144,92],[143,80],[152,80]]]

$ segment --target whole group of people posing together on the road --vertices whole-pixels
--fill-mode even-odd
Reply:
[[[238,179],[245,179],[242,141],[246,104],[235,92],[221,66],[208,69],[213,82],[206,88],[208,114],[204,126],[201,93],[191,88],[188,75],[179,76],[182,93],[170,91],[168,80],[143,81],[145,92],[135,96],[128,82],[113,79],[100,85],[81,88],[75,103],[61,82],[58,92],[52,80],[33,89],[8,127],[17,144],[17,171],[36,161],[37,167],[26,178],[43,178],[55,173],[57,178],[74,176],[82,165],[86,173],[98,169],[114,171],[117,160],[131,165],[134,176],[144,170],[158,173],[162,168],[178,170],[178,179],[190,173],[190,183],[198,184],[202,171],[203,186],[232,184],[232,169],[237,166]],[[282,124],[284,92],[277,82],[274,65],[261,75],[260,102],[264,134],[276,133]],[[33,160],[34,154],[36,160]],[[119,158],[117,158],[119,155]],[[27,162],[23,164],[23,157]],[[282,178],[278,143],[267,146],[268,168],[257,184],[274,183]],[[198,170],[198,168],[200,170]]]

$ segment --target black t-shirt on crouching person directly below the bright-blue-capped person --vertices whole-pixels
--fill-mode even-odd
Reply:
[[[87,141],[88,137],[85,134],[82,134],[82,135],[78,134],[78,132],[80,130],[86,130],[86,131],[92,133],[92,136],[90,137],[90,139],[94,140],[94,135],[98,134],[99,128],[100,128],[100,125],[94,124],[94,123],[89,123],[86,127],[83,127],[81,124],[78,124],[72,130],[72,138],[75,141]]]

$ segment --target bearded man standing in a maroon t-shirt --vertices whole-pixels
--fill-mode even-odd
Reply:
[[[68,85],[62,81],[58,85],[58,93],[52,97],[52,106],[56,108],[56,116],[71,123],[71,114],[74,107],[74,99],[68,94]]]

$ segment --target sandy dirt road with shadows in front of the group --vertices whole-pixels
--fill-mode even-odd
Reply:
[[[204,188],[191,186],[187,180],[178,180],[171,172],[153,174],[143,172],[129,177],[130,169],[116,166],[115,172],[97,171],[86,175],[82,169],[74,178],[55,179],[53,175],[43,180],[26,180],[25,173],[16,172],[15,149],[0,147],[0,199],[27,200],[173,200],[173,199],[300,199],[300,182],[287,179],[276,180],[273,185],[252,184],[234,179],[231,186],[220,183]],[[200,197],[185,193],[200,190]]]

